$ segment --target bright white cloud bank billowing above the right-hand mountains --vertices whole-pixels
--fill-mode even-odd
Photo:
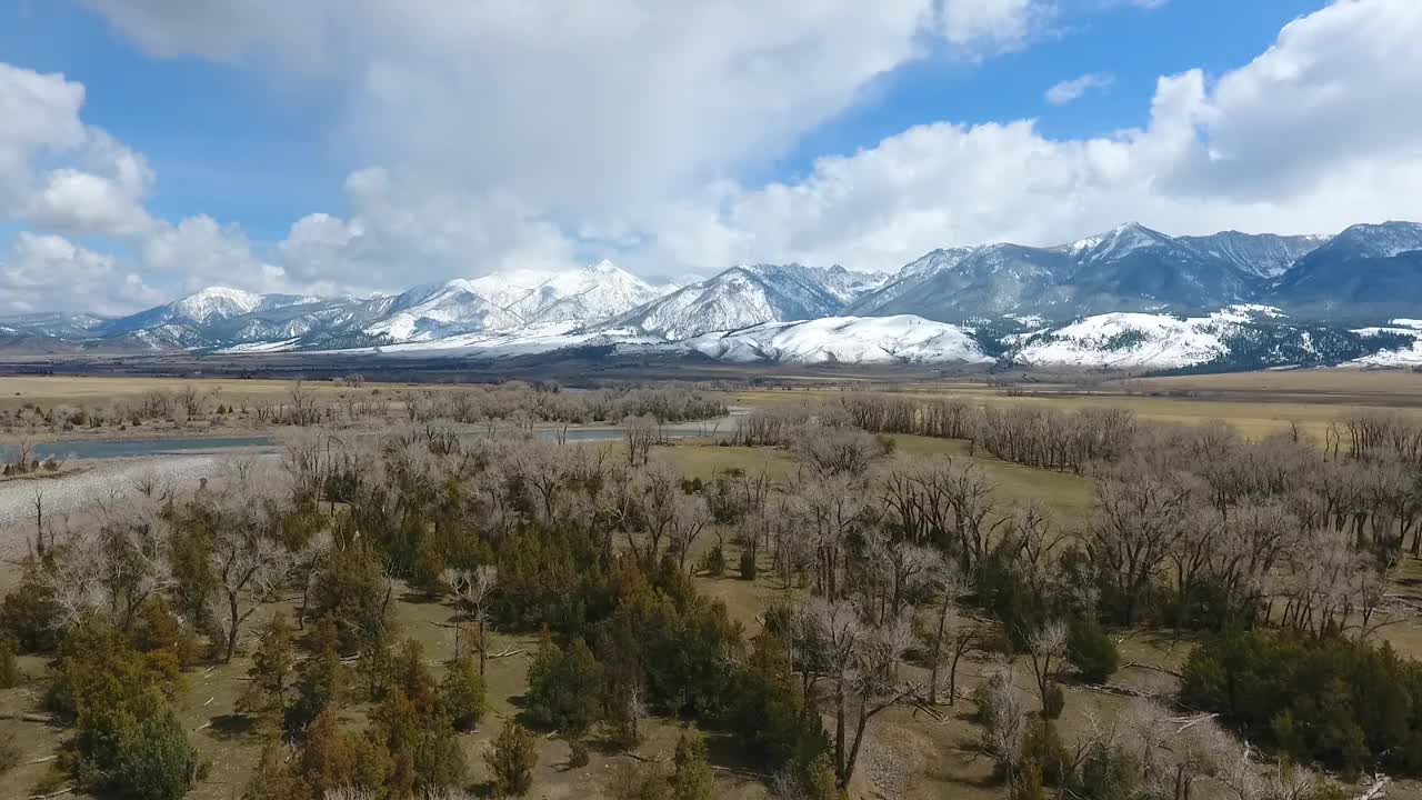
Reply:
[[[1411,0],[1345,0],[1213,84],[1199,70],[1160,78],[1142,128],[1052,140],[1030,120],[919,125],[802,181],[665,211],[647,262],[893,269],[931,248],[1051,245],[1126,219],[1170,233],[1422,219],[1419,36]]]

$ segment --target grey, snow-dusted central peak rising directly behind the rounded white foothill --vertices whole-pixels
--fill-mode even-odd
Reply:
[[[840,266],[741,265],[613,317],[609,327],[680,340],[712,330],[832,316],[882,276]]]

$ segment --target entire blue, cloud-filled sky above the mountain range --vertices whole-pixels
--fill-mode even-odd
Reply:
[[[7,0],[0,315],[1422,219],[1416,0]]]

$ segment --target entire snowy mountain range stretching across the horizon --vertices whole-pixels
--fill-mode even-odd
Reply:
[[[937,249],[886,273],[761,263],[653,286],[604,260],[371,298],[215,286],[125,317],[0,319],[0,349],[498,357],[596,344],[738,362],[1227,369],[1422,362],[1419,306],[1415,222],[1335,236],[1126,223],[1048,248]]]

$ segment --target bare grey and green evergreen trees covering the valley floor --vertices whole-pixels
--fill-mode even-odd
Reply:
[[[26,555],[0,686],[37,692],[11,716],[63,730],[28,794],[203,791],[179,712],[213,670],[242,685],[223,719],[253,757],[208,796],[247,800],[536,797],[550,753],[567,796],[907,797],[876,774],[883,720],[906,715],[968,720],[958,746],[1014,800],[1322,800],[1422,776],[1422,665],[1386,638],[1416,616],[1392,592],[1422,555],[1412,419],[1250,438],[846,391],[691,444],[661,426],[725,414],[720,393],[343,403],[239,407],[289,428],[280,454],[134,480],[82,514],[37,502],[7,531]],[[535,436],[592,420],[621,441]],[[685,447],[792,468],[691,475],[667,457]],[[984,458],[1074,475],[1089,511],[1008,495]],[[417,629],[414,606],[441,611]],[[1162,690],[1116,679],[1138,635],[1187,642],[1177,668],[1145,665]],[[489,676],[515,663],[495,712]],[[590,763],[614,777],[579,786]]]

